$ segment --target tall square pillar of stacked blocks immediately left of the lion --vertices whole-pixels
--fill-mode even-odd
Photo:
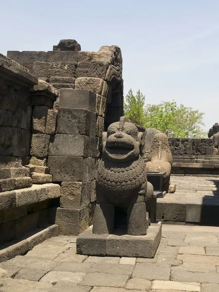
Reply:
[[[61,182],[59,233],[79,234],[91,223],[95,202],[94,167],[99,155],[96,134],[96,94],[62,89],[57,134],[49,147],[48,166]]]

